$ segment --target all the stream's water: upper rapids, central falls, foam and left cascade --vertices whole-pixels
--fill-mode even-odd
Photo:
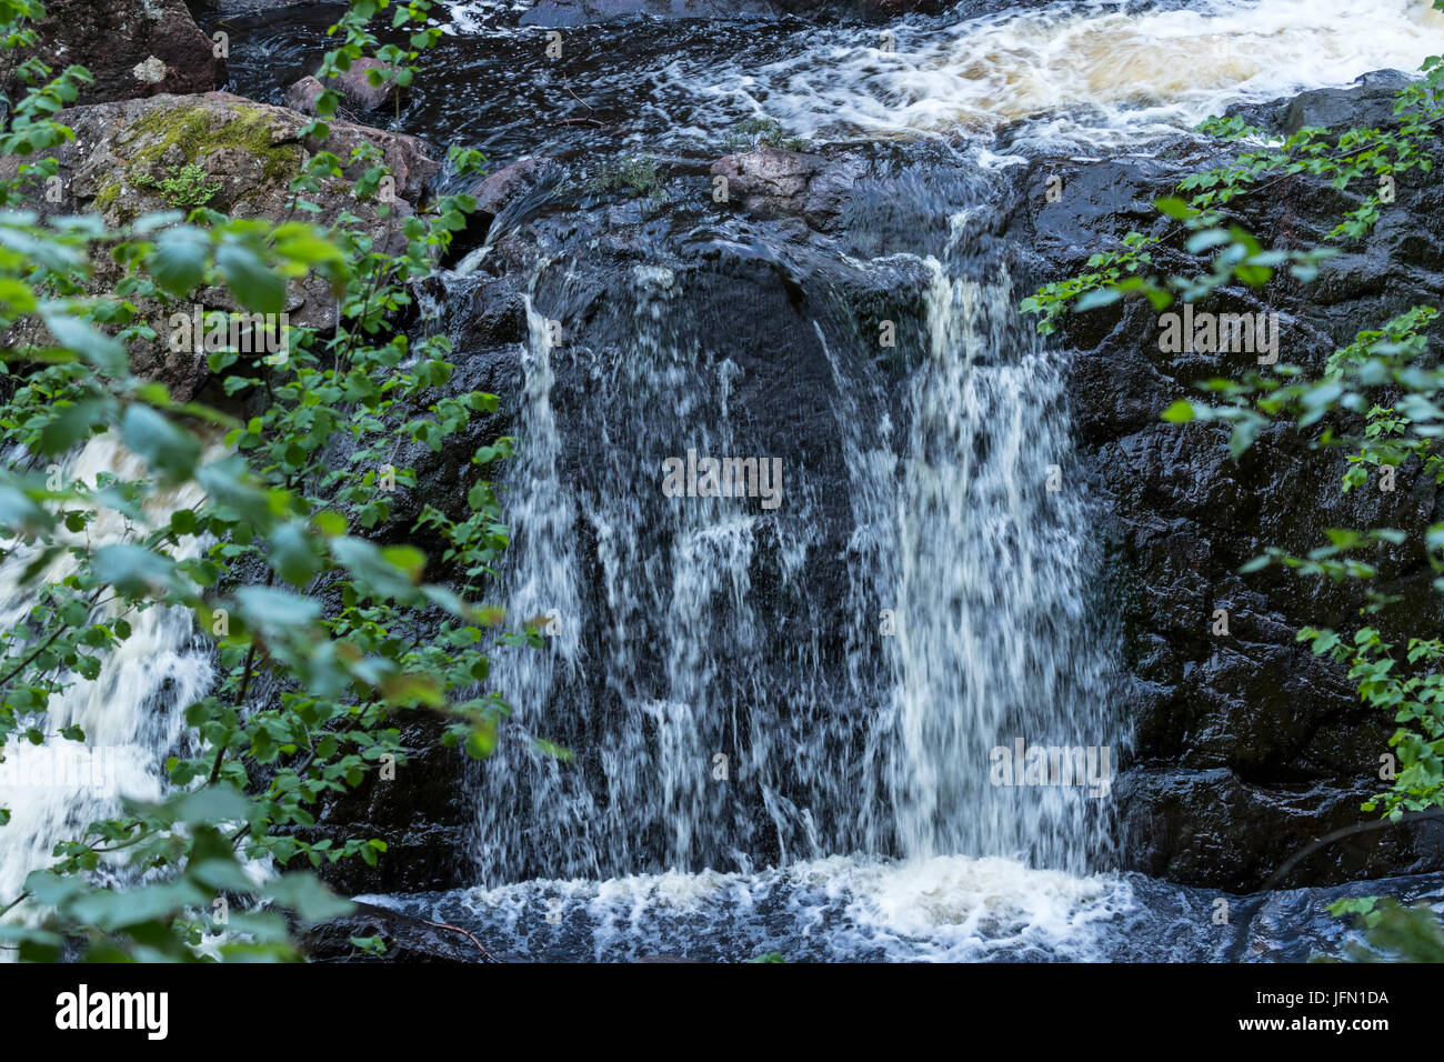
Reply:
[[[438,144],[546,157],[566,182],[635,149],[667,185],[650,191],[697,191],[718,156],[751,146],[732,143],[739,120],[768,118],[826,156],[823,182],[866,172],[859,188],[892,191],[814,224],[706,198],[654,212],[637,186],[599,205],[559,181],[567,217],[503,246],[521,215],[554,211],[550,186],[514,201],[419,295],[465,331],[471,286],[510,290],[533,244],[547,256],[514,351],[523,384],[503,392],[518,448],[495,588],[513,626],[544,639],[494,657],[488,688],[513,715],[465,780],[478,887],[386,902],[435,905],[529,957],[1096,958],[1106,923],[1109,955],[1219,958],[1197,932],[1217,894],[1106,873],[1108,783],[1129,743],[1109,702],[1118,631],[1067,355],[1018,316],[1031,277],[1009,275],[993,231],[1009,218],[989,207],[1015,189],[989,182],[1028,159],[1147,155],[1236,103],[1414,69],[1444,14],[1425,0],[1079,0],[745,32],[648,19],[569,27],[553,61],[514,4],[449,7],[432,90],[404,118]],[[267,19],[248,55],[237,29],[243,91],[279,100],[329,46],[329,19],[295,17]],[[576,53],[585,78],[570,79]],[[939,170],[956,185],[924,188]],[[892,269],[895,283],[849,288]],[[904,303],[890,312],[908,342],[879,351],[859,289]],[[504,316],[458,342],[458,361],[491,357]],[[739,351],[732,332],[768,316],[790,324]],[[768,407],[770,389],[807,409]],[[670,462],[690,488],[699,457],[752,461],[758,484],[778,461],[780,504],[669,491]],[[103,436],[61,474],[146,470]],[[199,501],[185,488],[147,510]],[[91,546],[131,533],[110,510],[87,530]],[[20,585],[32,558],[0,561],[12,627],[38,600]],[[189,751],[182,712],[214,685],[209,644],[185,610],[131,627],[43,717],[79,725],[82,746],[6,748],[0,905],[121,795],[165,793],[166,756]],[[1152,951],[1129,955],[1135,887]]]

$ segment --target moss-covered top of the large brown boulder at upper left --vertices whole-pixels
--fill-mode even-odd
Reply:
[[[75,131],[74,142],[55,150],[59,201],[48,198],[48,189],[36,188],[32,205],[42,214],[94,211],[108,225],[124,225],[142,214],[169,208],[172,202],[160,182],[189,165],[201,168],[204,186],[212,191],[206,205],[237,218],[279,220],[290,212],[287,184],[315,152],[328,150],[349,159],[352,149],[367,142],[380,149],[394,173],[390,215],[381,217],[375,199],[352,197],[352,182],[365,169],[365,163],[357,162],[342,178],[328,182],[319,195],[308,197],[321,207],[319,214],[308,217],[326,225],[351,211],[368,224],[378,246],[397,251],[404,246],[400,223],[413,212],[440,169],[429,156],[429,147],[416,137],[335,121],[326,142],[313,143],[302,136],[308,124],[303,114],[228,92],[75,107],[62,111],[59,120]],[[0,160],[0,172],[13,173],[14,166],[14,159]],[[105,257],[97,263],[97,280],[114,283],[117,270]],[[208,289],[199,299],[204,309],[241,309],[221,289]],[[306,277],[292,282],[286,312],[295,325],[331,327],[335,299],[325,282]],[[205,384],[209,371],[204,353],[172,350],[166,342],[169,314],[159,305],[142,306],[142,315],[156,322],[153,327],[162,338],[152,344],[137,342],[131,350],[131,367],[186,400]]]

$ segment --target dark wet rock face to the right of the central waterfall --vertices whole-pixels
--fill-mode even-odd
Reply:
[[[1376,77],[1264,110],[1281,126],[1380,124],[1392,91]],[[1022,179],[1027,207],[1015,223],[1018,238],[1040,256],[1040,279],[1082,272],[1087,254],[1116,246],[1131,228],[1161,231],[1147,204],[1204,168],[1197,150],[1180,143],[1147,162],[1034,166]],[[1045,195],[1050,176],[1061,179],[1061,197]],[[1354,199],[1297,176],[1245,198],[1239,210],[1265,247],[1298,247],[1323,243],[1352,205]],[[1317,374],[1357,331],[1412,305],[1440,305],[1444,263],[1419,250],[1441,240],[1437,182],[1427,173],[1401,175],[1396,202],[1385,208],[1373,237],[1336,244],[1343,253],[1314,283],[1276,277],[1259,292],[1227,289],[1197,309],[1276,312],[1279,361]],[[1186,269],[1175,249],[1158,257],[1165,270]],[[1074,315],[1064,335],[1079,350],[1071,387],[1084,446],[1079,475],[1108,497],[1100,509],[1115,608],[1128,631],[1125,695],[1136,743],[1134,767],[1115,792],[1131,868],[1188,884],[1256,889],[1313,839],[1373,818],[1359,803],[1388,785],[1379,779],[1379,757],[1389,751],[1393,722],[1359,704],[1344,668],[1320,660],[1294,637],[1304,626],[1363,626],[1357,588],[1278,568],[1238,569],[1266,546],[1307,553],[1326,545],[1328,527],[1398,527],[1409,540],[1380,558],[1379,585],[1404,603],[1380,626],[1402,642],[1437,630],[1444,618],[1419,552],[1424,530],[1444,519],[1444,504],[1417,461],[1401,468],[1393,493],[1370,483],[1341,494],[1344,455],[1311,449],[1305,432],[1274,428],[1235,461],[1226,429],[1161,423],[1160,412],[1175,399],[1199,396],[1197,381],[1240,379],[1255,357],[1164,353],[1160,334],[1158,315],[1138,301]],[[1227,634],[1213,633],[1214,610],[1227,611]],[[1440,865],[1444,831],[1405,825],[1331,844],[1282,884]]]

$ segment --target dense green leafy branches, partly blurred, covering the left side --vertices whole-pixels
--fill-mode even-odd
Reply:
[[[352,0],[332,29],[342,43],[325,75],[374,43],[367,23],[386,6]],[[414,49],[435,39],[427,10],[425,0],[396,10],[394,26],[422,27]],[[0,38],[25,43],[26,20],[42,13],[29,0],[0,0]],[[449,195],[394,218],[404,238],[396,253],[349,212],[325,230],[292,220],[316,211],[306,197],[347,162],[368,163],[355,195],[375,197],[388,173],[362,146],[352,160],[316,155],[292,182],[292,217],[279,224],[204,204],[189,220],[152,214],[124,228],[92,215],[46,221],[14,207],[55,172],[43,153],[71,133],[51,116],[88,75],[51,78],[33,62],[23,74],[32,88],[14,103],[0,150],[39,157],[0,188],[0,205],[12,208],[0,214],[0,328],[13,338],[0,363],[0,432],[27,457],[0,470],[0,561],[25,564],[35,607],[0,633],[0,751],[17,738],[84,741],[78,727],[53,733],[46,708],[98,678],[147,610],[192,613],[214,637],[218,681],[185,711],[189,730],[166,761],[163,799],[127,802],[56,844],[53,865],[30,874],[23,894],[0,897],[0,915],[38,909],[0,926],[0,939],[25,959],[296,958],[292,920],[349,907],[305,868],[386,854],[374,838],[306,841],[296,831],[316,824],[328,793],[355,787],[380,763],[406,763],[407,714],[440,714],[448,744],[490,751],[507,707],[485,692],[488,652],[537,642],[534,631],[500,633],[503,613],[484,600],[507,545],[484,475],[510,454],[508,439],[474,454],[465,516],[423,519],[440,559],[396,542],[403,529],[384,546],[357,533],[393,520],[394,491],[414,485],[403,454],[455,446],[497,406],[477,392],[442,397],[448,341],[412,341],[394,325],[417,311],[410,282],[432,270],[475,204]],[[334,91],[321,94],[310,133],[323,137],[336,103]],[[451,162],[471,172],[481,156],[452,152]],[[377,208],[390,215],[386,202]],[[103,256],[124,269],[111,290],[95,290]],[[188,311],[218,286],[251,315],[279,315],[287,282],[306,275],[336,298],[332,329],[282,325],[283,347],[267,354],[244,342],[208,348],[232,412],[173,400],[131,373],[127,348],[160,341],[143,308]],[[149,474],[71,475],[66,455],[95,438],[124,444]],[[182,488],[204,500],[168,504]],[[107,520],[124,532],[92,535]],[[231,910],[228,922],[208,932],[218,906]]]

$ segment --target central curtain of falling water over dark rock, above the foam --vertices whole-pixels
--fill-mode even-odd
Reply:
[[[1106,857],[1125,737],[1086,496],[1067,480],[1066,364],[985,267],[973,220],[953,217],[943,259],[923,260],[924,355],[897,426],[866,340],[814,322],[846,497],[784,467],[775,509],[661,490],[689,451],[767,455],[734,399],[748,370],[709,344],[689,279],[635,267],[593,347],[554,342],[537,290],[567,270],[539,267],[504,597],[550,636],[494,670],[514,717],[475,783],[484,883],[849,852],[1070,873]],[[840,616],[816,575],[839,542]],[[996,785],[995,750],[1025,780],[1019,748],[1053,750],[1053,774]]]

